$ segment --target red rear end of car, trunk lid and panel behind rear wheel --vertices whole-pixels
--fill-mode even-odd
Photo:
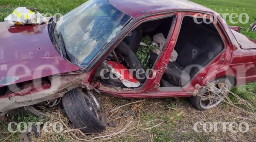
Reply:
[[[232,76],[236,78],[234,86],[256,81],[256,42],[241,33],[231,30],[239,42],[240,47],[233,50],[233,60],[228,70],[220,72],[218,76]]]

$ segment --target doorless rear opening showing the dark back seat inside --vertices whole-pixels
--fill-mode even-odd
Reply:
[[[169,61],[160,87],[183,87],[224,50],[224,42],[209,19],[183,17],[174,50],[177,59]]]

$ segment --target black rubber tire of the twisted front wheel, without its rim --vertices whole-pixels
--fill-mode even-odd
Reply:
[[[84,133],[100,133],[106,125],[89,109],[81,88],[73,89],[62,97],[67,117]]]

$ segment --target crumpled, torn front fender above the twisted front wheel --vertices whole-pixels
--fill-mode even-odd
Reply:
[[[77,87],[91,90],[93,87],[87,82],[88,78],[88,74],[70,72],[10,85],[5,92],[6,94],[2,94],[2,87],[0,116],[12,109],[62,97],[66,92]]]

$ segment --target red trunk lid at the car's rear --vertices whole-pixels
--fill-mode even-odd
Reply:
[[[256,41],[250,39],[243,34],[231,30],[236,37],[237,42],[241,45],[241,49],[256,49]]]

